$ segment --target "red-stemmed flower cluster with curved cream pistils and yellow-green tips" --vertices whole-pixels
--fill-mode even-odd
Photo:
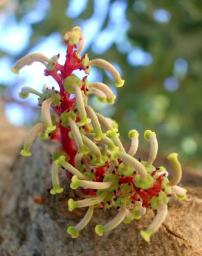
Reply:
[[[116,95],[109,86],[102,82],[89,83],[87,75],[82,80],[74,74],[80,70],[89,74],[91,66],[98,66],[111,73],[117,87],[123,86],[124,80],[114,66],[102,59],[89,60],[87,54],[80,56],[84,48],[84,35],[76,26],[64,33],[67,46],[66,60],[59,64],[59,55],[46,57],[33,53],[22,57],[12,67],[14,73],[33,62],[42,62],[46,66],[45,75],[50,75],[59,85],[59,91],[52,86],[45,86],[42,93],[30,87],[23,87],[19,96],[27,98],[30,93],[37,95],[42,106],[42,120],[30,130],[21,155],[30,156],[30,148],[37,136],[42,139],[57,140],[58,152],[51,156],[51,176],[53,189],[50,194],[62,193],[58,173],[65,170],[71,177],[71,188],[80,190],[84,199],[68,199],[68,209],[87,207],[84,218],[76,226],[68,227],[68,234],[75,238],[91,220],[94,208],[108,210],[118,208],[118,214],[104,225],[95,226],[95,232],[102,236],[116,228],[121,222],[130,223],[140,219],[147,209],[156,211],[154,221],[140,235],[145,241],[158,230],[167,215],[167,203],[174,194],[184,199],[186,190],[178,187],[181,180],[181,165],[177,154],[168,159],[173,167],[171,181],[167,178],[165,167],[154,167],[158,142],[153,131],[145,131],[150,150],[147,161],[140,161],[134,156],[138,150],[138,131],[129,131],[131,145],[128,152],[123,147],[118,133],[118,125],[110,118],[95,113],[88,105],[89,95],[96,95],[101,102],[113,104]],[[71,95],[74,94],[75,98]]]

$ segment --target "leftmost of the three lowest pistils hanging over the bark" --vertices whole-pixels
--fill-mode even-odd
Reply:
[[[94,208],[94,205],[89,206],[89,209],[87,210],[83,219],[79,223],[77,223],[75,227],[74,226],[68,227],[67,232],[69,235],[71,235],[72,238],[77,238],[79,236],[80,231],[87,226],[87,224],[89,223],[89,221],[93,216],[93,208]]]

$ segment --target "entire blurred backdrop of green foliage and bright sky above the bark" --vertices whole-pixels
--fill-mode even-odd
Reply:
[[[115,118],[120,133],[156,131],[160,154],[178,152],[184,164],[202,171],[202,1],[200,0],[0,0],[0,92],[13,125],[32,126],[37,98],[20,100],[21,86],[55,86],[42,64],[20,75],[10,66],[28,53],[48,57],[66,48],[61,34],[81,26],[84,52],[118,68],[125,86],[92,68],[89,80],[104,81],[117,95],[113,106],[91,98],[93,107]],[[63,57],[62,57],[63,55]]]

